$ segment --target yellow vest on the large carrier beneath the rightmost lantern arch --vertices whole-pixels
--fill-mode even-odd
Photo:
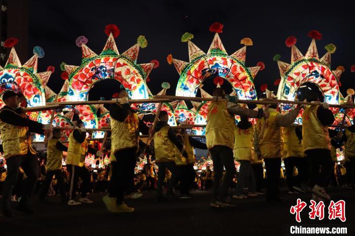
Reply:
[[[328,128],[323,126],[317,117],[318,105],[307,106],[302,114],[303,149],[328,149],[330,138]]]

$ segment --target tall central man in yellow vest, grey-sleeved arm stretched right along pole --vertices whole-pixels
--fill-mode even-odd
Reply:
[[[227,192],[236,173],[233,158],[234,148],[234,115],[245,115],[252,118],[267,117],[268,112],[241,108],[237,96],[225,95],[222,88],[216,88],[215,97],[227,97],[227,101],[214,101],[208,105],[206,125],[206,145],[211,153],[215,170],[211,207],[230,206],[227,203]],[[223,167],[226,169],[222,184]]]

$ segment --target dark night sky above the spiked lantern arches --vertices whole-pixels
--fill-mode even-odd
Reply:
[[[355,14],[349,2],[323,4],[320,1],[288,1],[282,4],[257,3],[256,1],[31,1],[29,9],[29,55],[33,46],[42,46],[45,57],[39,59],[39,71],[54,65],[56,71],[51,76],[49,87],[59,92],[63,81],[59,65],[80,65],[81,50],[75,45],[80,35],[85,35],[87,46],[99,54],[107,40],[103,32],[105,25],[116,24],[121,34],[116,38],[117,48],[123,53],[136,43],[138,35],[145,35],[148,47],[140,49],[137,63],[157,59],[160,66],[153,70],[148,86],[153,94],[161,90],[162,82],[169,82],[169,94],[175,93],[179,74],[173,65],[166,62],[171,53],[174,58],[188,61],[187,43],[180,41],[184,32],[194,34],[192,40],[204,52],[208,51],[214,33],[208,31],[211,23],[224,24],[221,40],[228,54],[241,48],[243,37],[250,37],[254,46],[247,48],[246,65],[255,66],[263,61],[266,68],[256,76],[256,88],[279,78],[277,63],[272,60],[275,54],[290,63],[291,49],[285,46],[290,35],[297,37],[297,47],[305,54],[311,42],[307,32],[319,30],[323,38],[317,41],[319,56],[326,50],[325,45],[333,43],[337,51],[332,55],[332,68],[345,67],[341,76],[341,91],[355,87],[355,73],[350,73],[350,65],[355,64]],[[332,12],[333,11],[333,12]],[[204,87],[211,92],[211,84]],[[118,83],[98,83],[92,90],[90,100],[98,95],[110,98],[116,92]]]

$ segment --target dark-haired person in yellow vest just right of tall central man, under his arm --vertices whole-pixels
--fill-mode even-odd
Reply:
[[[254,153],[254,126],[246,116],[240,116],[240,122],[234,130],[234,158],[240,163],[239,174],[234,199],[246,199],[248,196],[257,196],[256,182],[251,162],[255,159]],[[249,193],[243,194],[244,187]]]

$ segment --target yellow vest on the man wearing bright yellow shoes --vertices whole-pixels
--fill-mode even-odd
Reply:
[[[136,147],[139,148],[139,120],[135,112],[129,111],[124,122],[111,117],[111,161],[115,162],[115,153],[119,150]]]

